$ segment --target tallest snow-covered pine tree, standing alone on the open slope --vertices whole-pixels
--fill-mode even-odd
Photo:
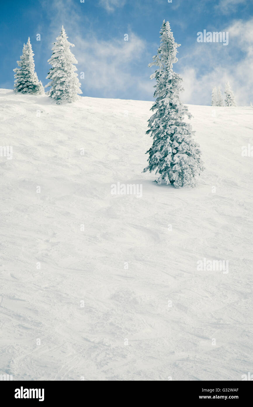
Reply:
[[[159,177],[155,182],[158,184],[164,180],[175,188],[195,186],[195,176],[203,170],[203,163],[199,145],[192,139],[192,127],[184,122],[184,117],[190,118],[191,114],[179,99],[179,92],[183,90],[182,78],[173,72],[180,44],[175,42],[168,21],[163,21],[160,34],[160,47],[149,64],[158,69],[150,77],[156,78],[156,101],[151,107],[155,113],[148,121],[147,130],[153,137],[153,145],[147,151],[149,165],[143,172],[156,170]]]

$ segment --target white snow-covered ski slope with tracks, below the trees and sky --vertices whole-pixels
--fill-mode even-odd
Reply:
[[[177,190],[142,173],[151,104],[58,106],[0,90],[0,144],[13,146],[11,160],[0,157],[0,374],[253,372],[253,158],[241,155],[253,109],[189,106],[205,171],[197,188]],[[117,182],[141,184],[142,197],[112,195]],[[229,267],[200,271],[204,258]]]

